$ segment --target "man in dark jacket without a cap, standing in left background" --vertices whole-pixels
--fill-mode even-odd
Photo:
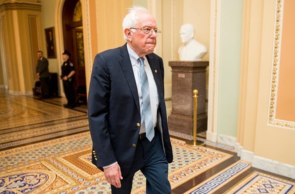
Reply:
[[[36,77],[39,78],[41,89],[42,89],[42,97],[49,97],[49,70],[48,70],[48,60],[43,57],[43,52],[37,52],[38,61],[36,67]]]

